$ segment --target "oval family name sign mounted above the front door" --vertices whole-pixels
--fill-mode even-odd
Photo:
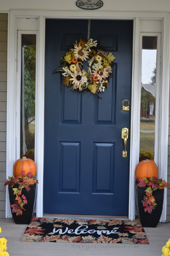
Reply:
[[[76,5],[85,10],[96,10],[103,6],[103,2],[101,0],[78,0]]]

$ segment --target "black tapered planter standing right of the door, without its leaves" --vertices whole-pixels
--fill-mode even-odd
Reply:
[[[151,213],[148,213],[148,212],[144,212],[144,206],[143,206],[143,203],[141,203],[144,196],[146,195],[145,190],[147,189],[147,187],[148,186],[146,186],[145,188],[137,187],[139,218],[143,227],[156,228],[162,214],[164,189],[158,188],[152,192],[152,195],[155,198],[157,205],[155,209],[152,210]]]

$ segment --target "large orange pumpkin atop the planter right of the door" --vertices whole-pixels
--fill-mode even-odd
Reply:
[[[158,168],[154,161],[146,159],[138,163],[135,174],[138,179],[144,177],[158,178]]]

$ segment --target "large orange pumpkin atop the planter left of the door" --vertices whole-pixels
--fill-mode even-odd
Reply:
[[[25,175],[22,175],[21,172],[25,171]],[[23,156],[23,158],[18,159],[14,164],[14,175],[24,177],[31,172],[34,176],[36,175],[37,168],[35,162]]]

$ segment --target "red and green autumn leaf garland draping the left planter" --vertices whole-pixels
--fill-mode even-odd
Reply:
[[[22,171],[22,175],[25,175],[26,172]],[[18,188],[13,188],[14,195],[16,195],[16,198],[14,200],[14,204],[11,205],[12,212],[16,212],[17,215],[22,215],[23,206],[27,204],[27,199],[25,195],[21,195],[22,189],[26,188],[27,191],[30,190],[29,185],[38,183],[38,180],[34,180],[33,174],[29,172],[26,176],[12,176],[8,177],[9,180],[6,179],[5,186],[9,185],[13,188],[14,185],[18,184]]]

